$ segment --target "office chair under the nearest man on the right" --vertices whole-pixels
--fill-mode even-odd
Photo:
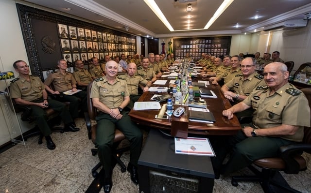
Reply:
[[[311,106],[311,88],[301,89]],[[259,181],[265,193],[274,192],[272,186],[282,189],[282,192],[298,193],[291,188],[285,179],[275,180],[274,177],[282,178],[278,171],[284,171],[286,174],[298,174],[307,169],[307,161],[301,156],[302,152],[311,153],[311,128],[304,128],[304,139],[302,143],[291,144],[280,148],[280,157],[262,158],[256,160],[254,164],[261,169],[261,172],[254,166],[249,168],[255,173],[255,176],[233,176],[231,184],[238,186],[238,181]]]

